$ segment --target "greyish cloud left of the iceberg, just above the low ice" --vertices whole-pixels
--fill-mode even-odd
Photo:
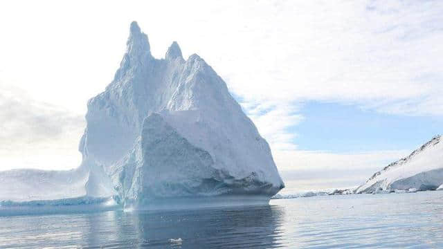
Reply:
[[[0,85],[1,169],[77,167],[75,153],[84,118]]]

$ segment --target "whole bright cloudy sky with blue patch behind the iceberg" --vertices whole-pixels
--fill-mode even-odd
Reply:
[[[131,21],[154,57],[213,66],[283,192],[359,185],[442,133],[442,1],[2,1],[0,170],[80,165]]]

